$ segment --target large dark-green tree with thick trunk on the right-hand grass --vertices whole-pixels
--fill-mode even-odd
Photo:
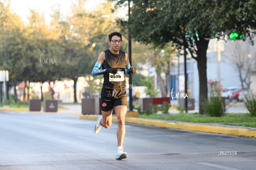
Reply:
[[[114,1],[114,0],[113,0]],[[127,1],[117,0],[117,5]],[[207,48],[211,38],[231,31],[252,36],[256,28],[254,0],[203,1],[160,0],[132,1],[131,15],[118,20],[122,27],[130,28],[132,38],[142,43],[163,46],[173,43],[184,46],[197,61],[199,77],[199,112],[207,99]]]

